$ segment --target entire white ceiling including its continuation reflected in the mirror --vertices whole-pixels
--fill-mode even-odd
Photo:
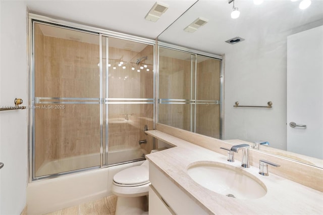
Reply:
[[[158,2],[169,5],[169,9],[157,22],[147,21],[144,17],[155,2],[26,0],[29,11],[35,14],[149,39],[161,33],[159,41],[218,55],[236,48],[274,44],[278,38],[323,25],[323,0],[312,0],[306,10],[298,8],[300,0],[265,0],[259,6],[252,0],[236,0],[235,7],[241,15],[235,20],[230,17],[232,3],[229,5],[227,0],[199,0],[197,3],[196,0],[161,0]],[[198,17],[209,21],[194,33],[183,30]],[[236,36],[245,41],[235,45],[225,43]]]

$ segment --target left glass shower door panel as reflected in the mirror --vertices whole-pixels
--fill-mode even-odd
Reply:
[[[158,123],[192,131],[194,58],[187,52],[159,47]]]

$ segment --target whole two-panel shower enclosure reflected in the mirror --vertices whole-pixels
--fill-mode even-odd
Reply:
[[[221,60],[158,49],[158,123],[221,139]]]

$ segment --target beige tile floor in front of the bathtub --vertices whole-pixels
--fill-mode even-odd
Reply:
[[[115,215],[116,204],[117,196],[110,195],[45,215]]]

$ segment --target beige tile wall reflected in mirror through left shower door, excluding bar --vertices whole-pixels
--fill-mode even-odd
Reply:
[[[190,100],[191,66],[189,53],[184,54],[182,59],[159,56],[159,98]],[[158,122],[190,131],[192,108],[191,104],[159,104]]]

